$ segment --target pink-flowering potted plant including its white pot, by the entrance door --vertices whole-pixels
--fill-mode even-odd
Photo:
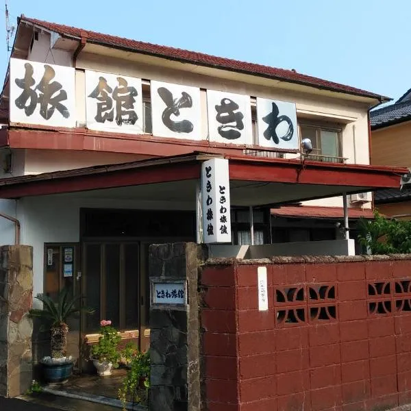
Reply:
[[[111,375],[112,369],[119,366],[121,354],[118,347],[121,336],[112,327],[110,320],[101,320],[100,326],[101,336],[99,342],[91,347],[91,358],[97,373],[103,377]]]

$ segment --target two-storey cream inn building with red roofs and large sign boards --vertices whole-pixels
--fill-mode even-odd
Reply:
[[[229,164],[219,221],[231,210],[232,225],[221,234],[232,229],[234,246],[253,232],[288,254],[340,253],[340,242],[308,240],[344,237],[341,195],[349,218],[370,216],[360,193],[397,188],[405,172],[369,165],[369,108],[388,100],[372,92],[25,16],[11,57],[0,212],[34,249],[35,294],[72,286],[97,308],[72,328],[73,353],[103,318],[147,345],[149,245],[212,232],[199,206],[200,193],[212,203],[199,189],[204,160]],[[0,242],[13,242],[13,224],[0,224]]]

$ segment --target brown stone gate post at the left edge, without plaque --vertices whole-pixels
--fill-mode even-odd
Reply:
[[[32,385],[33,249],[0,247],[0,395],[17,397]]]

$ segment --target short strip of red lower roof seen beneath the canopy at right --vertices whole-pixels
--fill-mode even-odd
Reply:
[[[278,217],[299,217],[317,219],[343,219],[344,209],[342,207],[319,207],[319,206],[282,206],[271,208],[271,215]],[[373,210],[370,208],[349,208],[350,219],[373,219]]]

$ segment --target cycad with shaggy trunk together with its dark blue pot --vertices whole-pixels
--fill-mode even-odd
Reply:
[[[42,358],[43,377],[45,382],[63,382],[71,376],[73,371],[73,358],[66,355],[67,334],[69,325],[67,320],[75,318],[80,312],[91,314],[90,308],[80,307],[81,297],[70,297],[69,288],[63,288],[58,296],[58,301],[53,301],[45,294],[36,296],[42,302],[42,310],[29,311],[33,317],[38,317],[50,325],[51,356]]]

